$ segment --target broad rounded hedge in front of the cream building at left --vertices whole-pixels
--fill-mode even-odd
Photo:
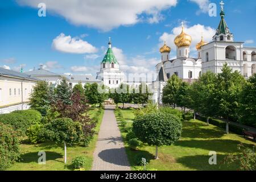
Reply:
[[[40,123],[42,115],[39,111],[28,109],[28,110],[17,110],[9,114],[0,114],[0,122],[13,126],[15,131],[18,131],[20,135],[26,135],[28,127],[35,123]]]

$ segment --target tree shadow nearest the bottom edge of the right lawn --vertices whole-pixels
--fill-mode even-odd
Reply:
[[[211,156],[208,155],[184,156],[182,158],[176,159],[176,162],[181,163],[191,169],[200,171],[236,171],[238,168],[236,164],[228,166],[224,163],[224,158],[226,156],[227,155],[217,154],[217,164],[212,165],[209,164],[209,158]]]

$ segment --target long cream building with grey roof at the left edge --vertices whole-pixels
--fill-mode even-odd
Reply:
[[[38,79],[0,68],[0,114],[28,109],[30,94]]]

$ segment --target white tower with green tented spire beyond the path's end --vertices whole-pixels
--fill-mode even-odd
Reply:
[[[124,78],[123,71],[119,70],[119,63],[112,51],[112,43],[109,39],[109,48],[101,61],[100,72],[97,73],[97,80],[101,80],[102,83],[109,88],[117,88]]]

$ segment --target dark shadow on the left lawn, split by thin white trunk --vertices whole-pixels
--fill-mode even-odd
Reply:
[[[39,155],[38,152],[28,152],[26,154],[22,154],[21,158],[22,161],[20,161],[21,163],[31,163],[31,162],[38,162],[39,159]],[[63,155],[57,153],[57,152],[50,152],[50,151],[46,151],[46,161],[47,160],[56,160],[56,159],[60,159],[63,158]],[[61,160],[56,160],[58,162],[63,162]]]

